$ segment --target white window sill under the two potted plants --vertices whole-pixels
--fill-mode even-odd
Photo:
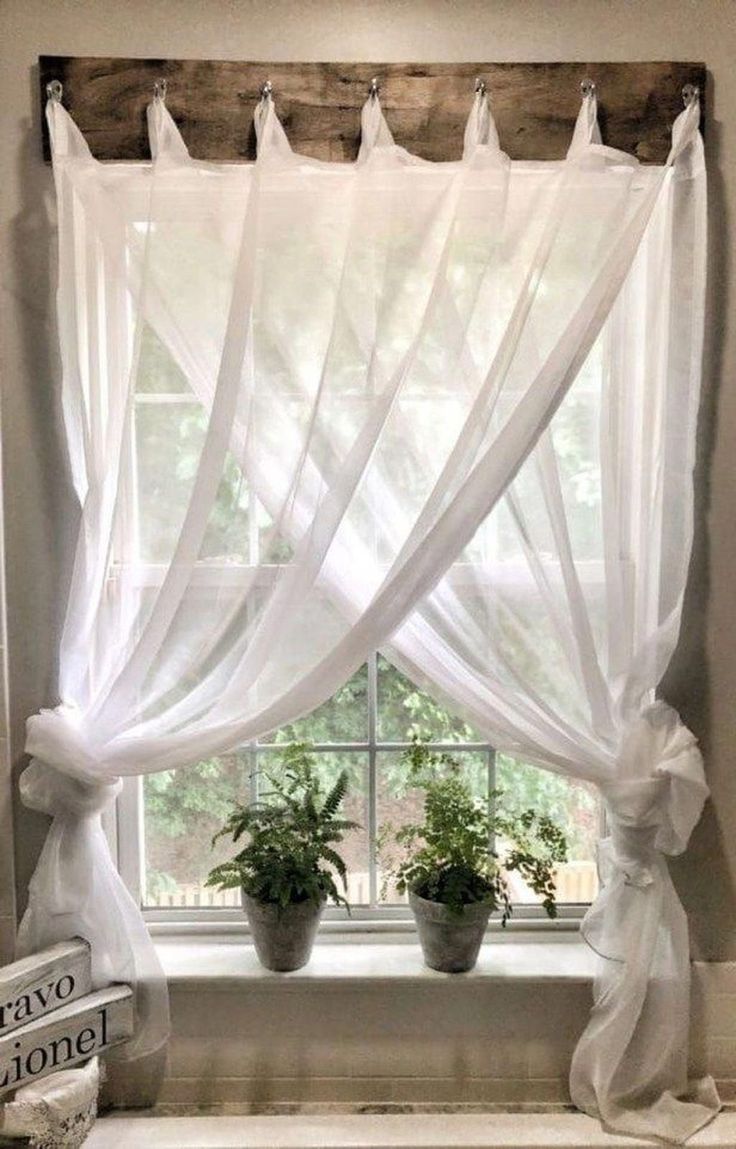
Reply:
[[[342,984],[456,984],[478,981],[526,981],[589,984],[595,974],[595,954],[579,935],[521,932],[494,938],[480,953],[478,965],[468,973],[439,973],[423,962],[418,944],[355,942],[315,946],[310,962],[292,973],[264,970],[253,946],[237,939],[202,941],[179,939],[156,942],[164,973],[172,988],[184,990],[230,989],[248,982],[284,985],[321,982]]]

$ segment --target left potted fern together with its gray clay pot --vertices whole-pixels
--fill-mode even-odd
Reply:
[[[307,743],[287,747],[277,776],[264,771],[271,789],[257,802],[235,805],[212,839],[232,836],[246,845],[207,879],[218,889],[242,889],[258,959],[266,970],[299,970],[309,961],[319,919],[331,897],[348,905],[335,884],[347,888],[343,859],[335,850],[356,823],[340,817],[348,791],[343,770],[327,794]]]

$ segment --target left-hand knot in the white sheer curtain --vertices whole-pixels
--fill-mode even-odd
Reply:
[[[24,805],[41,813],[100,813],[117,797],[122,781],[104,774],[84,719],[76,707],[41,710],[26,723],[26,754],[31,764],[20,780]]]

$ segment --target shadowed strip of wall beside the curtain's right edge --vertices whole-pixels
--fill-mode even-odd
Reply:
[[[680,642],[663,683],[664,697],[676,707],[700,742],[713,800],[704,810],[685,854],[672,862],[672,876],[690,919],[691,950],[702,961],[736,958],[731,923],[736,920],[733,831],[736,771],[716,756],[716,715],[711,692],[707,607],[711,597],[708,516],[718,427],[719,384],[723,370],[729,267],[726,191],[721,172],[721,124],[713,119],[713,77],[708,72],[705,149],[708,164],[708,279],[703,371],[695,468],[695,539],[685,591]],[[735,703],[736,710],[736,703]],[[721,715],[722,720],[722,715]],[[723,738],[720,738],[721,748]],[[722,749],[721,749],[722,754]],[[730,849],[727,847],[729,843]]]

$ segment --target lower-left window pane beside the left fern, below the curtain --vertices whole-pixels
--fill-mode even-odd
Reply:
[[[245,751],[146,774],[145,905],[240,905],[240,890],[220,894],[206,888],[204,880],[234,853],[232,842],[222,839],[212,848],[211,840],[232,803],[247,801],[250,762]]]

